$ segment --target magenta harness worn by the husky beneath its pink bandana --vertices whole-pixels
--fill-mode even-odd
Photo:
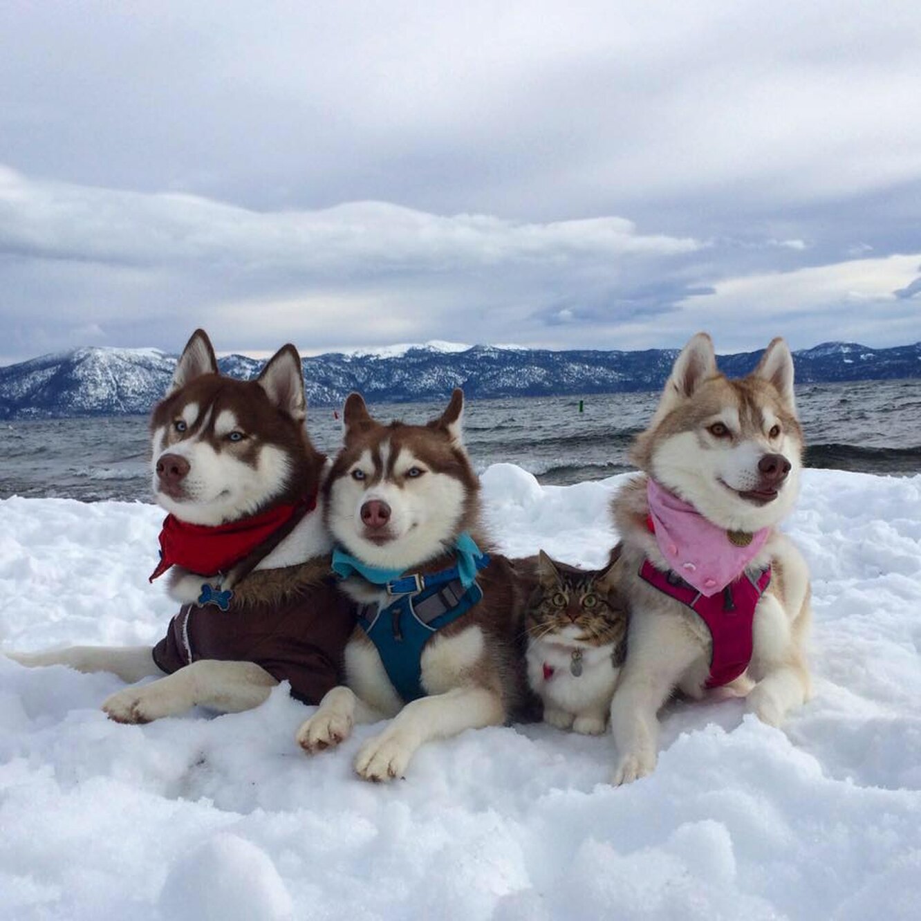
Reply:
[[[681,601],[706,624],[713,647],[710,676],[706,680],[708,688],[729,684],[748,668],[752,661],[754,609],[771,583],[770,566],[766,566],[757,578],[742,573],[709,598],[675,573],[662,572],[648,560],[640,567],[639,577],[654,589]]]

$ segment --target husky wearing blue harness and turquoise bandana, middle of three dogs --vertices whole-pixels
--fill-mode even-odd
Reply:
[[[297,732],[309,753],[355,723],[394,717],[356,756],[368,780],[401,777],[428,740],[506,721],[527,694],[520,649],[525,597],[491,558],[480,484],[461,442],[463,394],[426,426],[383,425],[353,393],[344,449],[326,481],[333,568],[362,608],[345,647],[347,686]]]

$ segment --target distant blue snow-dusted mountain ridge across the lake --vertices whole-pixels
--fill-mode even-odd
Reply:
[[[449,347],[446,347],[449,346]],[[658,390],[677,349],[553,352],[495,345],[433,343],[392,354],[332,353],[303,359],[311,405],[337,405],[351,391],[369,402],[441,400],[454,387],[472,399]],[[761,352],[719,356],[736,377]],[[873,349],[823,343],[794,353],[797,382],[921,378],[921,343]],[[78,348],[0,367],[0,419],[146,414],[169,386],[176,356],[158,349]],[[262,361],[227,356],[220,369],[251,379]]]

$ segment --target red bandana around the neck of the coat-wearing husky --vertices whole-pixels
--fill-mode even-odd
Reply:
[[[316,507],[317,497],[311,495],[293,505],[274,506],[251,518],[220,525],[189,524],[168,515],[160,531],[160,562],[150,581],[173,565],[201,576],[226,573],[295,516],[306,515]]]

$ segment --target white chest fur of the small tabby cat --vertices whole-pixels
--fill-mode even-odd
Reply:
[[[528,681],[544,705],[574,715],[603,710],[611,701],[620,671],[614,667],[613,651],[613,644],[570,647],[530,639]]]

